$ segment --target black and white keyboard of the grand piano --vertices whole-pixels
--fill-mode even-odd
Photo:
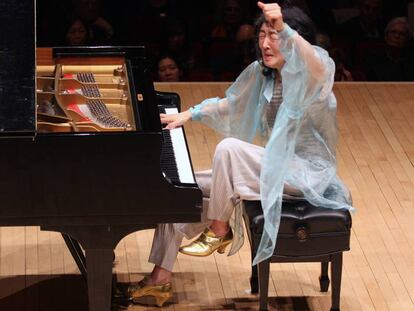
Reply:
[[[161,108],[166,114],[178,113],[177,108]],[[161,154],[161,169],[173,183],[195,184],[182,127],[163,130],[164,144]]]

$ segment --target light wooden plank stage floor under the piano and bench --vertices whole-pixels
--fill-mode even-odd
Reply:
[[[229,83],[157,83],[183,108],[223,96]],[[339,175],[352,192],[351,251],[344,253],[342,311],[414,310],[414,83],[338,83]],[[221,137],[186,125],[196,170],[209,168]],[[125,237],[114,271],[135,282],[147,262],[153,230]],[[319,264],[272,264],[270,310],[329,310],[318,291]],[[179,255],[174,297],[165,310],[258,310],[250,295],[246,241],[231,257]],[[86,287],[61,236],[36,227],[0,228],[0,310],[87,310]],[[159,310],[151,301],[125,310]]]

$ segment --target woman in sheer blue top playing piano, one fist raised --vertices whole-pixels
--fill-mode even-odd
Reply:
[[[212,170],[196,174],[203,195],[209,197],[203,204],[204,222],[158,226],[149,259],[154,270],[129,287],[133,298],[154,296],[161,306],[172,296],[171,271],[178,251],[207,256],[232,244],[230,254],[236,252],[242,242],[241,200],[262,201],[265,226],[254,263],[273,253],[282,198],[352,209],[349,192],[336,175],[334,62],[325,50],[311,45],[314,27],[300,9],[276,3],[258,6],[258,61],[241,73],[226,97],[161,115],[167,128],[192,119],[227,138],[216,148]],[[257,134],[265,147],[251,143]],[[183,236],[200,233],[180,248]]]

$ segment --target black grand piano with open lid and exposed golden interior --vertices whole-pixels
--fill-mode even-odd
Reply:
[[[36,66],[35,6],[0,2],[0,226],[61,232],[89,310],[109,311],[117,243],[200,220],[184,131],[159,120],[180,99],[154,90],[143,47],[54,49]]]

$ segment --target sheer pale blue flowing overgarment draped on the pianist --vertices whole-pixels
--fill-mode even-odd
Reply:
[[[313,205],[353,210],[336,173],[334,62],[288,25],[280,32],[279,48],[286,61],[281,70],[283,102],[271,131],[265,130],[263,116],[275,79],[264,76],[257,61],[227,89],[225,98],[209,98],[191,109],[193,120],[224,136],[252,142],[259,135],[266,142],[260,174],[265,222],[253,264],[273,254],[285,183],[301,190]]]

